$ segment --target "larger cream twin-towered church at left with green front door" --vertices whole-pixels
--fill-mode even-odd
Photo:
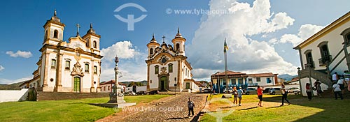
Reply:
[[[36,63],[33,79],[21,88],[35,87],[38,91],[90,93],[99,87],[101,59],[99,38],[90,24],[84,36],[79,32],[68,41],[63,40],[64,24],[56,11],[44,28],[41,57]],[[77,29],[79,25],[77,24]]]

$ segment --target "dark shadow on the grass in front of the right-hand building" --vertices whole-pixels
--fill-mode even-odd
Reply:
[[[282,96],[264,98],[265,102],[281,102],[281,100]],[[322,109],[321,112],[316,112],[311,116],[297,119],[296,121],[349,121],[347,117],[350,114],[349,99],[334,100],[334,98],[313,97],[312,100],[309,101],[307,97],[303,97],[302,95],[292,95],[288,96],[288,100],[291,105]],[[267,107],[266,109],[284,106]]]

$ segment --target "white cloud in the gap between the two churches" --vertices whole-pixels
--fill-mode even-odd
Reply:
[[[147,65],[145,59],[147,54],[139,52],[136,47],[132,46],[130,41],[120,41],[110,47],[101,50],[102,56],[102,73],[101,82],[115,79],[114,76],[114,58],[118,54],[118,69],[123,77],[118,81],[141,81],[147,78]]]

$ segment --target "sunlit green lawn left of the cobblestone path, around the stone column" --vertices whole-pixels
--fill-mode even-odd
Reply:
[[[171,95],[125,96],[127,102],[151,102]],[[0,103],[0,121],[96,121],[115,113],[116,109],[88,103],[104,103],[109,98],[82,100],[44,100],[38,102]]]

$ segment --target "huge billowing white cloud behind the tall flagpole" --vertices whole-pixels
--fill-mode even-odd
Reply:
[[[211,1],[210,9],[232,10],[230,15],[207,15],[195,31],[187,54],[193,64],[194,78],[209,77],[224,69],[223,40],[228,41],[228,68],[243,73],[296,74],[296,67],[283,60],[269,43],[250,36],[286,29],[295,21],[287,13],[271,13],[268,0],[256,0],[253,6],[237,1]],[[215,30],[215,31],[213,31]],[[203,47],[205,47],[203,49]],[[196,74],[197,73],[197,74]]]

